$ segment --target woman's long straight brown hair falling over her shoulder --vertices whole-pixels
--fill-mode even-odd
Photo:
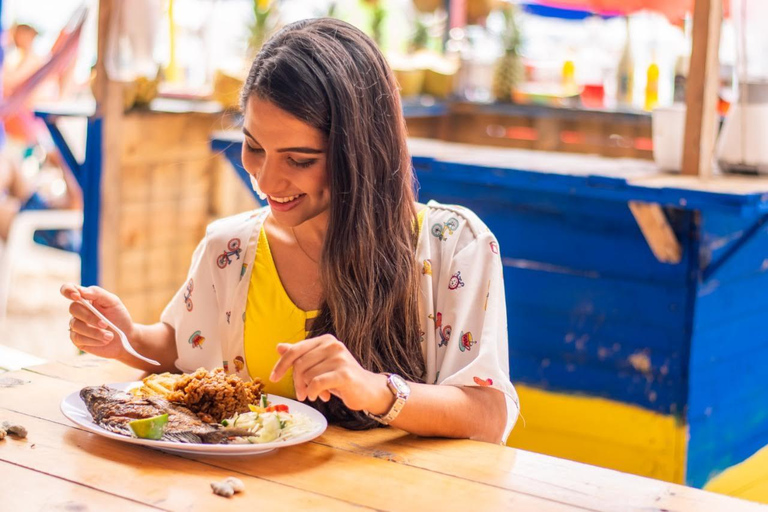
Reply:
[[[400,95],[383,55],[348,23],[299,21],[257,55],[243,110],[253,95],[328,137],[324,303],[311,335],[335,335],[367,370],[423,382],[414,176]],[[378,425],[336,397],[313,405],[347,428]]]

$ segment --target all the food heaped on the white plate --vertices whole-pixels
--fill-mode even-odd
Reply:
[[[316,429],[304,414],[272,404],[256,380],[222,368],[150,375],[130,391],[91,386],[80,391],[94,423],[141,439],[203,444],[285,441]]]

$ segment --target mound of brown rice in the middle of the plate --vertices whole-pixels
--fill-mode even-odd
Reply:
[[[258,379],[246,382],[227,374],[223,368],[210,372],[200,368],[181,375],[166,398],[185,405],[207,423],[219,423],[234,414],[248,412],[248,406],[261,397],[261,389]]]

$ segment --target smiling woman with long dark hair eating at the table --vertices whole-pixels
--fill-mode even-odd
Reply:
[[[209,226],[158,324],[132,323],[96,287],[65,296],[92,300],[166,370],[223,365],[347,428],[506,439],[518,405],[498,246],[471,212],[415,202],[375,44],[338,20],[289,25],[241,103],[243,165],[269,207]],[[70,311],[75,345],[157,370],[82,305]]]

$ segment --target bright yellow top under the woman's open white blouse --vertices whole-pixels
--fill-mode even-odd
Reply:
[[[426,210],[424,208],[418,214],[419,231]],[[266,393],[296,398],[293,369],[288,370],[279,382],[270,382],[269,374],[280,358],[277,344],[306,339],[309,334],[306,330],[307,320],[315,318],[317,314],[318,311],[299,309],[288,296],[277,273],[267,233],[262,226],[248,285],[243,342],[248,373],[251,378],[261,379]]]

